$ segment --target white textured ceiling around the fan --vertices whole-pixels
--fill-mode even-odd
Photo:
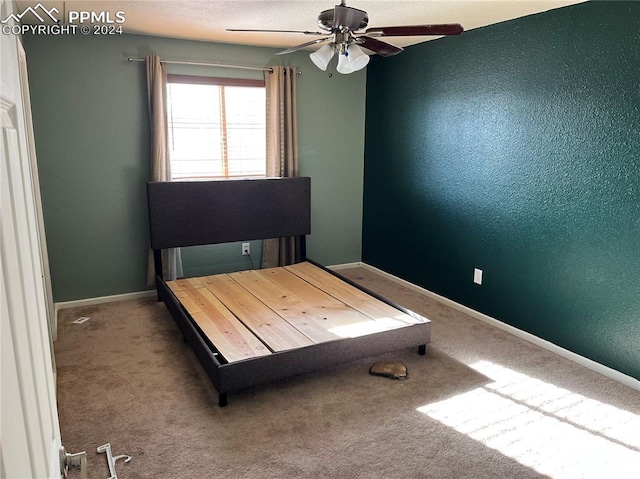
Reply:
[[[349,0],[347,5],[369,14],[369,27],[460,23],[465,30],[523,17],[584,0]],[[18,10],[37,0],[18,1]],[[317,31],[318,14],[337,0],[67,0],[41,1],[63,17],[69,11],[125,13],[124,31],[145,35],[291,47],[318,37],[295,33],[227,32],[226,28]],[[25,16],[24,20],[29,21]],[[65,17],[67,18],[67,17]],[[386,37],[407,46],[433,37]]]

